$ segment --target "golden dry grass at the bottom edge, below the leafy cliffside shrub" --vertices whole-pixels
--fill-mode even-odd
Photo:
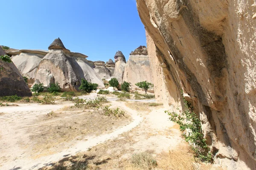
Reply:
[[[158,167],[162,170],[195,170],[194,155],[187,144],[180,145],[169,153],[160,154]]]

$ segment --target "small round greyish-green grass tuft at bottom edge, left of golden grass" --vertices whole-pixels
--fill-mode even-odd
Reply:
[[[131,163],[134,165],[134,167],[143,170],[151,170],[154,167],[157,167],[157,161],[149,152],[141,152],[134,154],[131,157]]]

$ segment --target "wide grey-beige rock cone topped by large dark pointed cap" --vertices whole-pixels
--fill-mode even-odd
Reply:
[[[105,87],[102,79],[85,59],[87,56],[70,52],[59,38],[48,49],[48,54],[39,63],[35,74],[35,79],[44,85],[58,82],[63,91],[78,91],[81,79],[84,78],[99,84],[99,88]]]

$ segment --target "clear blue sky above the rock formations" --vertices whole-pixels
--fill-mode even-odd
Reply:
[[[1,2],[0,45],[43,49],[60,37],[65,47],[92,61],[126,59],[146,45],[135,0],[5,0]]]

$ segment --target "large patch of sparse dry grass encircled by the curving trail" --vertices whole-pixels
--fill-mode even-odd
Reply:
[[[111,133],[117,127],[131,122],[127,114],[123,117],[105,116],[97,111],[63,111],[51,112],[34,122],[39,125],[31,127],[30,139],[33,141],[34,153],[58,152],[65,143],[72,140],[82,140],[85,136],[98,136],[102,133]]]

